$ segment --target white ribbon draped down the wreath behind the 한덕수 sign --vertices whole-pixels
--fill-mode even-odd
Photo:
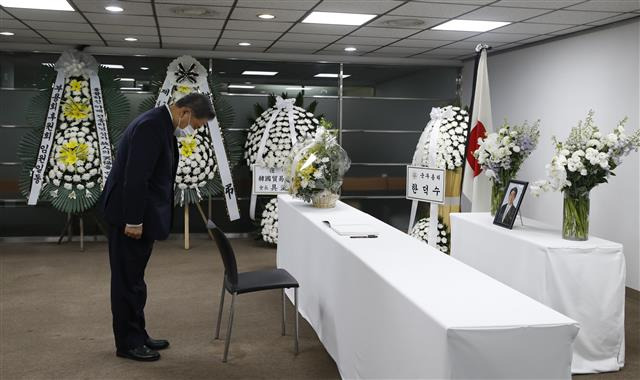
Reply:
[[[438,137],[440,135],[440,126],[442,125],[442,122],[444,120],[454,116],[453,110],[451,108],[451,106],[447,106],[444,108],[431,108],[431,113],[429,115],[430,120],[427,123],[425,130],[422,132],[422,135],[420,136],[418,148],[416,149],[416,153],[413,156],[414,165],[423,165],[431,168],[437,167],[436,161],[438,156]],[[428,146],[425,141],[427,138],[429,139]],[[427,148],[426,152],[425,147]],[[442,190],[444,191],[444,189]],[[445,199],[451,200],[451,198]],[[448,202],[445,201],[445,203]],[[439,207],[440,206],[436,203],[430,203],[429,205],[429,230],[427,231],[427,241],[432,247],[436,247],[435,238],[438,236]],[[415,223],[417,211],[418,201],[414,200],[411,202],[411,215],[409,216],[409,233],[411,233],[411,229],[413,228],[413,224]]]

